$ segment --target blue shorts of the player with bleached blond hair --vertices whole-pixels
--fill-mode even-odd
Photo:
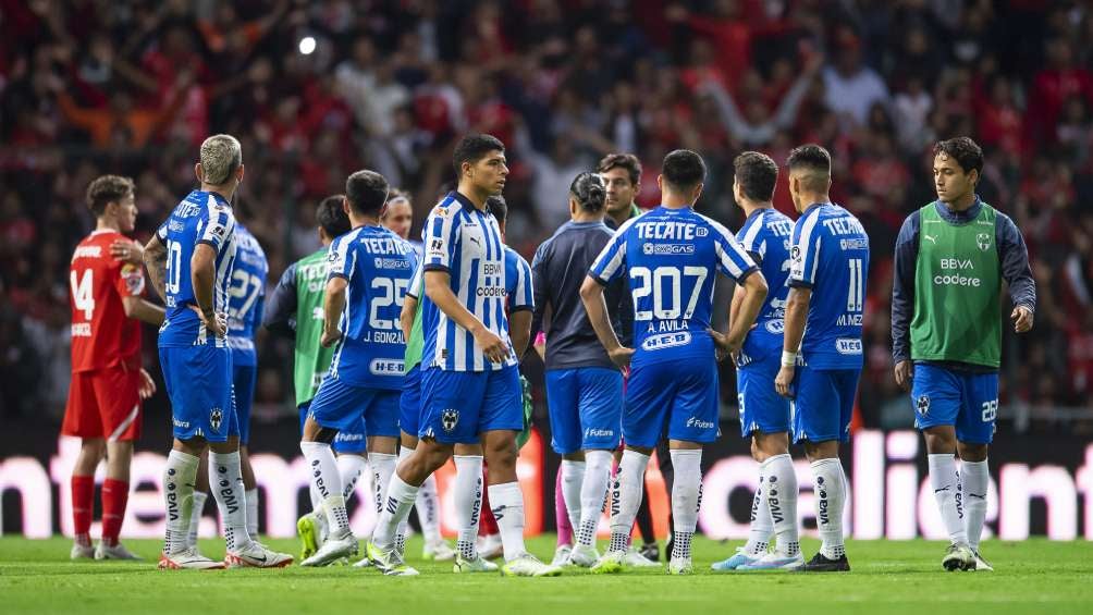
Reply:
[[[175,438],[223,442],[239,435],[232,394],[232,351],[205,344],[160,348]]]

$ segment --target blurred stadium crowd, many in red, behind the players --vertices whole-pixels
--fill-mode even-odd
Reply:
[[[214,132],[243,142],[239,217],[270,260],[318,248],[316,203],[373,168],[420,224],[453,140],[500,137],[509,243],[526,258],[567,220],[566,188],[609,152],[694,149],[700,209],[739,228],[733,156],[803,142],[834,157],[832,198],[872,241],[867,425],[906,425],[892,380],[892,248],[933,200],[930,145],[968,134],[980,193],[1023,230],[1036,328],[1003,341],[1002,403],[1050,428],[1093,400],[1093,12],[1048,0],[0,0],[0,414],[59,419],[69,379],[68,258],[104,173],[137,181],[146,239],[193,185]],[[792,214],[784,184],[777,206]],[[149,338],[151,340],[151,338]],[[256,414],[292,411],[291,348],[260,336]],[[146,342],[145,364],[154,364]],[[731,368],[726,372],[731,374]],[[732,404],[733,380],[722,381]]]

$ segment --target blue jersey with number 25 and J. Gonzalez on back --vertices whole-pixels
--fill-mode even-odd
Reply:
[[[407,342],[399,314],[418,265],[413,246],[383,226],[359,226],[330,244],[327,262],[328,280],[348,283],[330,375],[356,387],[401,389]]]

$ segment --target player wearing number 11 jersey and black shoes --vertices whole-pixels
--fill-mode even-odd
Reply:
[[[861,323],[869,237],[858,218],[831,202],[831,154],[820,145],[789,153],[789,194],[801,212],[794,227],[778,393],[794,399],[794,441],[815,481],[820,553],[798,570],[849,570],[843,546],[846,475],[838,443],[849,440],[861,374]]]

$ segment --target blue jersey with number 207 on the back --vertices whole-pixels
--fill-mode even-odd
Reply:
[[[709,359],[706,331],[719,271],[737,282],[759,270],[736,237],[691,208],[659,206],[623,224],[589,275],[608,284],[624,272],[634,297],[632,364]]]

